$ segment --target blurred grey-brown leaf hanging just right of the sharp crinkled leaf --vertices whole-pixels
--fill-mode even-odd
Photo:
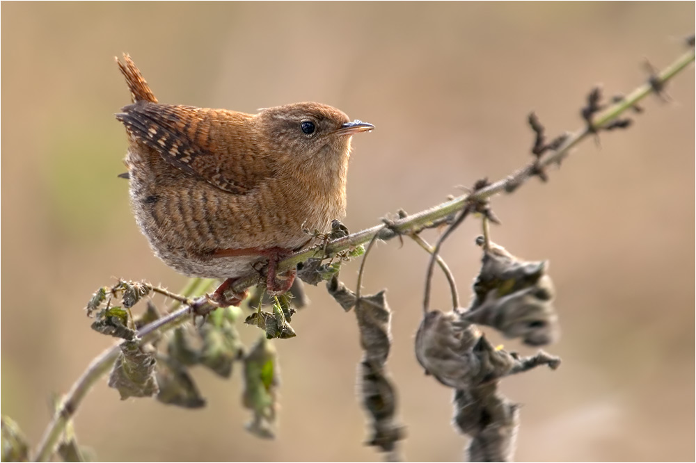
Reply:
[[[184,408],[205,407],[205,399],[184,366],[160,358],[157,362],[157,400]]]

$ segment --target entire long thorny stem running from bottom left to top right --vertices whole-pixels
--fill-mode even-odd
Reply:
[[[688,53],[677,58],[674,63],[657,74],[654,78],[654,83],[657,83],[659,86],[663,86],[663,84],[667,83],[667,81],[672,79],[672,77],[679,74],[679,72],[684,70],[690,63],[693,63],[694,58],[694,50],[690,49]],[[608,109],[606,109],[606,111],[595,117],[594,127],[600,128],[613,120],[616,120],[619,115],[627,111],[629,108],[635,106],[638,101],[644,99],[650,93],[655,92],[656,86],[654,83],[646,83],[639,88],[636,88],[633,90],[633,92],[631,92],[631,95],[626,97],[626,99],[623,99],[622,101],[610,106]],[[512,192],[514,188],[521,186],[533,176],[535,168],[544,168],[547,165],[562,161],[562,159],[568,155],[569,150],[590,135],[590,133],[592,133],[592,129],[590,127],[583,127],[582,129],[571,133],[566,139],[565,143],[563,143],[555,151],[544,156],[543,159],[539,159],[539,163],[537,163],[537,165],[526,165],[525,167],[516,170],[511,176],[476,190],[474,193],[456,197],[453,200],[413,214],[412,216],[397,219],[391,223],[390,227],[388,228],[384,227],[384,225],[377,225],[375,227],[362,230],[361,232],[345,236],[344,238],[338,238],[337,240],[331,241],[326,245],[317,245],[315,247],[310,247],[307,250],[296,252],[290,257],[287,257],[287,259],[283,259],[283,261],[278,262],[278,271],[282,272],[284,270],[290,270],[298,263],[313,257],[325,258],[335,256],[335,254],[338,254],[339,252],[349,250],[358,245],[367,243],[368,241],[372,241],[373,239],[379,238],[386,241],[401,234],[413,234],[420,232],[422,229],[432,228],[458,211],[464,209],[464,207],[470,202],[485,200],[493,195],[497,195],[498,193],[503,193],[506,190]],[[464,216],[464,214],[462,214],[462,216]],[[431,260],[432,263],[434,263],[434,259]],[[193,289],[198,286],[198,283],[196,282],[196,279],[193,279],[192,281],[195,283],[189,283],[187,289],[191,289],[193,292]],[[210,284],[212,281],[214,280],[210,280],[203,288],[200,288],[199,286],[198,289],[204,292],[207,291],[209,286],[211,286]],[[258,284],[261,281],[262,277],[258,275],[258,273],[249,273],[245,277],[239,278],[232,286],[232,289],[241,292],[247,289],[249,286]],[[156,320],[155,322],[141,328],[139,331],[139,336],[141,336],[142,342],[144,343],[151,339],[152,334],[155,334],[155,332],[171,330],[171,328],[184,323],[188,319],[187,316],[190,309],[191,307],[187,305],[186,307],[172,311],[163,318],[159,318],[159,320]],[[102,375],[109,371],[109,368],[111,368],[113,362],[116,361],[118,353],[120,352],[119,346],[119,344],[116,344],[115,346],[104,350],[102,354],[96,357],[90,363],[86,371],[84,371],[81,377],[79,377],[77,382],[72,385],[70,391],[68,391],[68,393],[63,397],[63,400],[61,400],[61,405],[58,407],[58,409],[56,409],[56,413],[46,428],[41,442],[35,452],[35,461],[45,462],[52,457],[56,445],[58,444],[58,439],[60,439],[61,433],[65,430],[65,426],[68,424],[68,421],[70,421],[72,416],[75,414],[77,408],[88,391],[90,391],[90,389],[97,382],[97,380],[102,377]]]

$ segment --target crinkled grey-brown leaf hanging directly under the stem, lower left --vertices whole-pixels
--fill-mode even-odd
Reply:
[[[155,356],[143,352],[138,341],[124,341],[120,348],[121,353],[109,375],[109,387],[118,389],[121,400],[154,396],[159,391]]]

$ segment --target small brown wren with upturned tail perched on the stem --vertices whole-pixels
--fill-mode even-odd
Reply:
[[[133,104],[116,119],[129,138],[133,211],[155,254],[184,275],[225,278],[211,296],[239,304],[235,279],[268,261],[267,288],[290,288],[276,266],[346,212],[354,133],[374,129],[331,106],[297,103],[258,114],[158,104],[127,54],[116,62]]]

